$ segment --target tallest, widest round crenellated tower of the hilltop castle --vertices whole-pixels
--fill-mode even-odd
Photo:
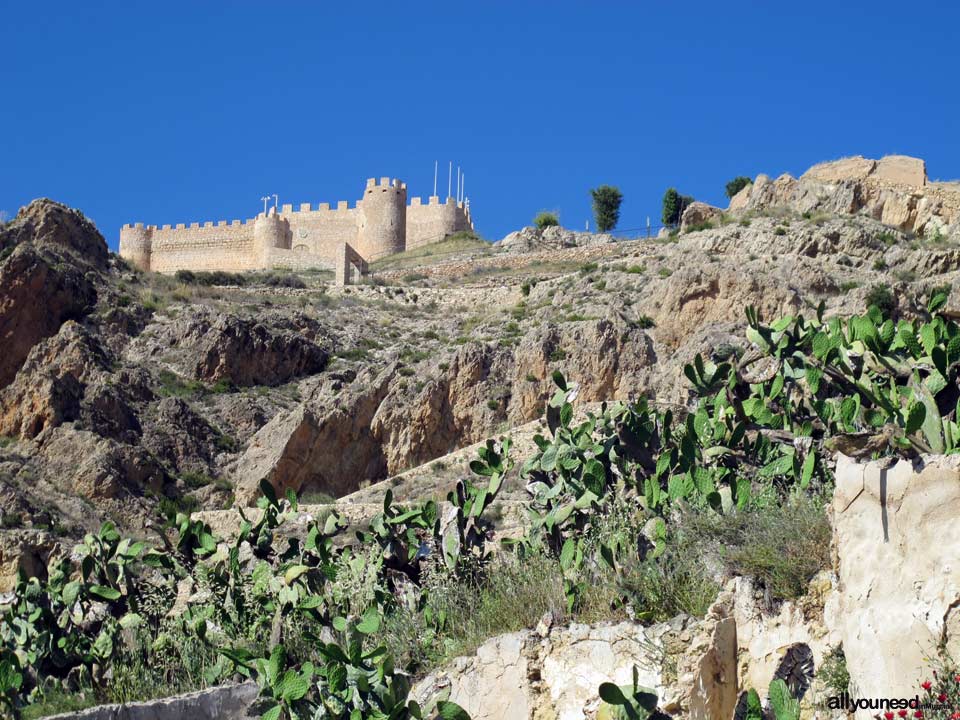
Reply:
[[[386,177],[379,183],[374,178],[367,180],[360,202],[357,252],[368,262],[403,252],[406,226],[407,186]]]

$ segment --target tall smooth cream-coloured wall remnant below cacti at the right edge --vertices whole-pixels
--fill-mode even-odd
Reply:
[[[913,697],[943,643],[960,650],[960,459],[840,456],[831,513],[842,637],[863,697]],[[865,715],[866,717],[866,715]]]

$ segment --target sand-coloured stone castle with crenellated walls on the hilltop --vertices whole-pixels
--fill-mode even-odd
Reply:
[[[387,177],[367,180],[363,197],[348,205],[283,205],[244,222],[128,224],[120,230],[120,256],[162,273],[324,268],[346,282],[352,268],[365,272],[379,258],[473,229],[467,201],[431,196],[424,205],[415,197],[407,205],[406,184]]]

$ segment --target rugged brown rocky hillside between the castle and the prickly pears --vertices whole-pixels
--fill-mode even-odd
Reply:
[[[808,196],[824,172],[795,182]],[[178,507],[252,504],[263,479],[347,496],[537,419],[555,370],[581,402],[683,404],[682,364],[739,352],[749,305],[848,314],[879,293],[909,316],[955,281],[960,248],[941,236],[761,202],[764,183],[699,231],[528,229],[342,289],[322,274],[145,276],[80,213],[30,204],[0,229],[7,582],[24,548],[42,564],[51,535],[106,518],[141,533]],[[456,468],[430,466],[431,492]]]

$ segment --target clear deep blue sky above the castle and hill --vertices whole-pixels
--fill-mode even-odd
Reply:
[[[466,173],[478,230],[540,209],[620,227],[669,185],[721,203],[739,174],[906,153],[960,176],[960,9],[878,2],[46,2],[0,0],[0,209],[125,222],[253,217],[427,196]],[[443,194],[441,192],[441,194]]]

